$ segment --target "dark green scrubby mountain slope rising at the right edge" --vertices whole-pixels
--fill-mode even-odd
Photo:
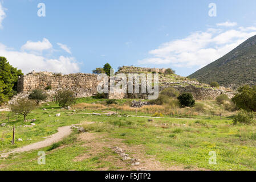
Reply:
[[[256,85],[256,35],[189,77],[206,84],[217,81],[231,88]]]

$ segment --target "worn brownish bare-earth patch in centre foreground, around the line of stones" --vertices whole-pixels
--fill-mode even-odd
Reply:
[[[105,162],[112,163],[115,167],[118,167],[120,171],[132,171],[132,170],[149,170],[149,171],[201,171],[205,170],[202,168],[186,169],[185,166],[178,166],[175,164],[164,164],[159,162],[154,155],[147,155],[145,147],[143,145],[127,145],[123,139],[109,138],[107,134],[99,133],[82,133],[78,137],[79,140],[83,141],[84,147],[89,150],[88,153],[82,154],[75,158],[75,161],[82,161],[92,156],[100,156],[104,154],[105,148],[118,146],[122,148],[129,157],[140,160],[139,166],[127,165],[127,162],[123,161],[119,155],[104,155],[101,159]],[[114,152],[113,152],[114,153]],[[100,171],[109,170],[109,167],[99,168]]]

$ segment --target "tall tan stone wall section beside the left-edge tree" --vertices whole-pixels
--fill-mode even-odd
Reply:
[[[71,89],[77,97],[88,97],[97,93],[97,75],[73,73],[60,75],[49,72],[31,72],[18,80],[18,92],[29,92],[33,89],[45,89],[51,86],[51,90]]]

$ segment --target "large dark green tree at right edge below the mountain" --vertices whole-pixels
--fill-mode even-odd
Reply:
[[[246,111],[256,111],[256,85],[245,85],[237,90],[237,94],[232,98],[238,109]]]

